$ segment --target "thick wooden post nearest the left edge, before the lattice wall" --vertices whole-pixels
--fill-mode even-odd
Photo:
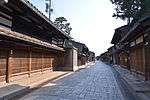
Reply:
[[[10,82],[10,78],[11,78],[11,73],[12,73],[12,54],[13,54],[13,50],[8,50],[7,53],[7,66],[6,66],[6,82],[9,83]]]

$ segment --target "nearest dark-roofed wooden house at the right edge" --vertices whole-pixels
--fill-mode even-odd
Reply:
[[[132,71],[150,80],[150,17],[146,16],[134,23],[122,39],[130,43],[130,65]]]

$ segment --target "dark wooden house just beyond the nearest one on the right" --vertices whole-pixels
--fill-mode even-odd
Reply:
[[[129,44],[121,41],[127,33],[127,25],[117,28],[111,41],[114,46],[108,50],[111,52],[114,64],[122,65],[123,67],[130,69]]]

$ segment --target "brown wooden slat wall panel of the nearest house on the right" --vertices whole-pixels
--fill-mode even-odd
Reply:
[[[144,68],[144,54],[143,54],[143,48],[137,47],[132,48],[130,51],[130,65],[131,69],[134,69],[136,71],[145,72]]]

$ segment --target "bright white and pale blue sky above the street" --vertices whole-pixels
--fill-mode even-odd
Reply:
[[[29,0],[45,13],[45,0]],[[85,43],[96,55],[110,46],[114,29],[126,22],[112,18],[114,12],[110,0],[52,0],[52,20],[63,16],[73,28],[71,36]],[[47,14],[46,14],[47,15]]]

